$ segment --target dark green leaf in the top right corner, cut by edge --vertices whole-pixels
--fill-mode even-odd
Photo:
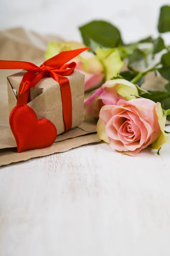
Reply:
[[[162,6],[160,9],[158,31],[159,33],[170,31],[170,6]]]

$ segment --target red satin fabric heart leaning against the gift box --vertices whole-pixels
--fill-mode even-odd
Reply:
[[[55,125],[48,119],[38,119],[28,105],[17,105],[11,111],[9,124],[14,134],[18,153],[28,149],[46,148],[57,137]]]

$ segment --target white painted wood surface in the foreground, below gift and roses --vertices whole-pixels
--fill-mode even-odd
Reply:
[[[0,255],[169,256],[169,155],[100,143],[0,169]]]

